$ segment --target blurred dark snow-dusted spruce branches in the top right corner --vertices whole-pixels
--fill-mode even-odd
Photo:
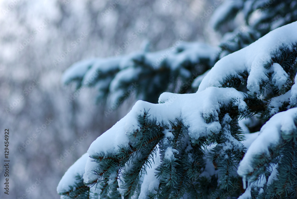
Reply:
[[[210,26],[222,30],[238,15],[244,18],[246,26],[224,34],[219,44],[220,58],[248,46],[278,27],[296,21],[296,9],[296,0],[225,0],[211,16]]]

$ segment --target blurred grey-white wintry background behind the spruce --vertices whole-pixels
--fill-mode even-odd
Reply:
[[[82,59],[115,56],[129,38],[121,55],[147,41],[151,51],[168,48],[181,35],[215,44],[205,27],[209,18],[200,18],[213,2],[0,0],[1,154],[4,129],[10,132],[10,189],[4,194],[3,155],[0,198],[60,198],[56,187],[65,171],[137,100],[105,115],[96,90],[75,93],[75,85],[61,84],[63,71]]]

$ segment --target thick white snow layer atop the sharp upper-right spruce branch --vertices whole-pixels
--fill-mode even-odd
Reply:
[[[202,80],[197,92],[211,86],[221,87],[221,82],[224,82],[224,79],[227,77],[240,78],[238,74],[244,71],[249,73],[247,88],[251,93],[260,92],[260,84],[269,81],[268,73],[271,71],[274,72],[274,85],[281,87],[286,81],[287,75],[279,64],[273,64],[270,69],[265,69],[263,65],[271,62],[271,55],[277,50],[276,48],[283,46],[292,48],[291,45],[297,42],[296,31],[297,22],[290,23],[220,59]]]

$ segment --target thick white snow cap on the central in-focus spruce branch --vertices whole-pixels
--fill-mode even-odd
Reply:
[[[142,116],[144,110],[149,111],[149,114],[151,114],[149,119],[155,119],[159,124],[163,122],[164,125],[170,126],[169,121],[175,121],[176,118],[183,121],[183,124],[188,127],[189,136],[193,139],[207,136],[211,132],[219,133],[221,130],[218,118],[219,109],[221,104],[230,102],[232,98],[240,100],[236,105],[239,112],[244,113],[247,108],[243,101],[244,96],[234,88],[209,87],[202,92],[192,94],[163,93],[159,98],[159,101],[164,102],[162,104],[138,101],[123,119],[91,144],[88,153],[89,155],[97,155],[98,152],[116,154],[119,152],[120,147],[128,147],[128,134],[136,129],[140,130],[137,116]],[[208,117],[213,117],[214,122],[206,123],[204,118]],[[171,152],[174,153],[175,151]],[[170,150],[168,149],[168,157],[170,158],[172,154],[169,153]],[[86,173],[83,176],[84,179],[94,179],[92,172],[95,163],[89,161]]]

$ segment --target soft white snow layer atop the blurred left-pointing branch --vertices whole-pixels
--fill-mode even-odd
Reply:
[[[138,62],[143,61],[147,66],[151,66],[151,69],[155,70],[164,67],[163,61],[166,61],[171,70],[179,70],[179,74],[183,74],[185,77],[191,76],[190,71],[182,68],[185,61],[199,63],[208,59],[211,66],[214,64],[215,57],[212,55],[216,54],[219,48],[200,42],[179,43],[176,47],[157,52],[134,52],[126,56],[94,58],[74,63],[64,72],[62,83],[67,84],[80,78],[83,79],[82,85],[88,86],[98,81],[98,78],[94,78],[98,75],[100,79],[105,79],[110,75],[114,76],[114,71],[121,70],[115,75],[114,79],[109,79],[108,85],[112,80],[110,85],[112,93],[118,87],[121,87],[122,82],[134,81],[134,79],[138,78],[138,73],[142,71],[143,67],[135,67],[135,65],[137,66],[135,60]],[[179,52],[178,49],[182,51]],[[105,84],[106,87],[106,82],[101,83]]]

